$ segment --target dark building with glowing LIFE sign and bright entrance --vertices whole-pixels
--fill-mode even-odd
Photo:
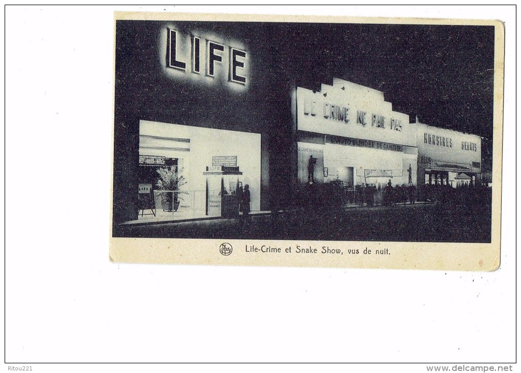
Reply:
[[[116,21],[115,226],[138,219],[138,185],[153,193],[160,167],[182,174],[181,207],[203,214],[205,172],[218,167],[239,168],[253,210],[269,210],[272,195],[286,199],[289,177],[277,170],[288,169],[290,85],[281,86],[282,71],[271,71],[277,54],[264,42],[266,28],[269,24]],[[278,104],[282,97],[288,109]],[[230,182],[227,193],[237,188]]]

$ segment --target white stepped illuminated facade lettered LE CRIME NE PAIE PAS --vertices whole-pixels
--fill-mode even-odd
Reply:
[[[383,93],[342,79],[294,95],[297,180],[384,187],[416,184],[416,129]]]

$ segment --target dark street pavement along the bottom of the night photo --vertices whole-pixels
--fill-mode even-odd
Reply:
[[[453,204],[299,210],[241,219],[119,226],[115,237],[490,242],[490,206]]]

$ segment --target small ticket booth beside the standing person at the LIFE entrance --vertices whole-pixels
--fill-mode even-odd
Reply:
[[[242,172],[239,167],[206,167],[206,215],[233,218],[239,216]]]

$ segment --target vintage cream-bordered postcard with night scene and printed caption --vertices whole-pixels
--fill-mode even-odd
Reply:
[[[494,20],[117,13],[110,260],[490,271]]]

